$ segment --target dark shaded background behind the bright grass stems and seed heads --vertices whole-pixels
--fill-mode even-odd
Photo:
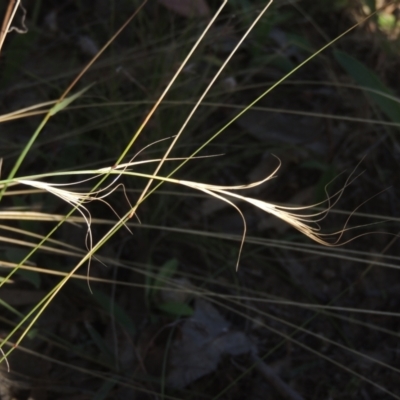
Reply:
[[[183,0],[146,3],[73,93],[95,85],[49,120],[17,176],[114,165],[221,4],[192,1],[191,15]],[[10,33],[0,56],[2,179],[44,116],[40,109],[18,118],[11,113],[57,99],[140,6],[124,0],[23,5],[28,33]],[[178,132],[265,5],[226,5],[126,161]],[[353,176],[319,224],[322,233],[355,227],[340,243],[355,240],[324,247],[238,202],[247,232],[236,271],[243,234],[237,210],[163,184],[139,207],[140,223],[130,220],[131,232],[119,230],[90,269],[86,264],[62,288],[7,357],[10,372],[1,364],[2,400],[400,398],[400,116],[360,89],[335,53],[345,52],[373,71],[371,82],[379,79],[397,99],[398,3],[275,1],[171,156],[188,157],[374,5],[382,7],[375,17],[300,68],[199,153],[212,158],[191,160],[174,175],[241,185],[265,178],[278,157],[277,177],[243,193],[285,206],[322,202],[325,188],[333,195]],[[6,6],[2,2],[0,15]],[[14,25],[22,18],[20,9]],[[368,77],[363,71],[360,78]],[[398,102],[393,104],[396,111]],[[42,110],[49,107],[43,104]],[[170,142],[155,143],[136,160],[162,157]],[[168,162],[161,175],[177,165]],[[135,171],[154,168],[143,164]],[[79,180],[71,175],[46,181]],[[127,198],[134,204],[146,182],[123,177],[121,183],[125,192],[120,187],[107,198],[120,216],[129,211]],[[84,182],[71,190],[92,186]],[[17,189],[27,188],[12,187],[2,198],[1,277],[71,210],[49,193]],[[88,210],[96,243],[117,216],[101,202]],[[19,214],[8,217],[11,212]],[[85,221],[77,212],[69,221],[0,287],[2,338],[87,252]],[[5,352],[22,331],[7,339]]]

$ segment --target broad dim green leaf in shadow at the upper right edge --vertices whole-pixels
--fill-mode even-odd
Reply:
[[[400,123],[400,100],[385,97],[385,94],[391,97],[395,97],[395,94],[386,87],[379,77],[363,63],[342,51],[335,51],[334,55],[342,68],[346,70],[359,86],[373,90],[364,90],[371,101],[373,101],[390,120]]]

